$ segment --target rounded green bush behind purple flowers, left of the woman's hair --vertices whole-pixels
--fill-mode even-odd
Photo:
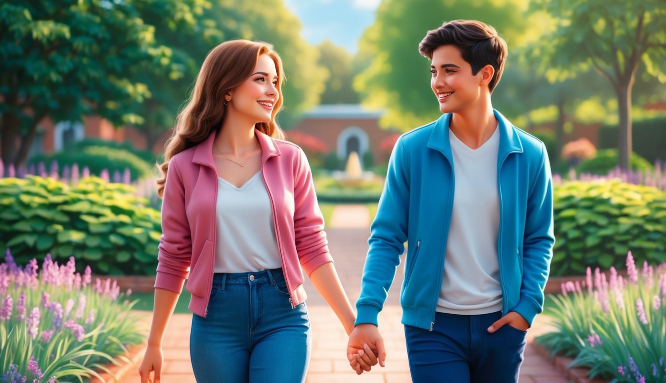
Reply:
[[[91,174],[99,175],[103,170],[109,170],[109,174],[118,171],[120,174],[128,168],[133,181],[151,176],[151,164],[145,162],[139,156],[129,150],[113,148],[113,146],[89,146],[72,150],[63,150],[49,155],[39,155],[31,158],[29,164],[43,162],[49,166],[52,161],[57,161],[60,167],[78,164],[79,169],[87,166]]]

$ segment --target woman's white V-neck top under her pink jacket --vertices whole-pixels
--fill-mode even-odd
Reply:
[[[218,177],[215,273],[282,267],[261,170],[240,188]]]

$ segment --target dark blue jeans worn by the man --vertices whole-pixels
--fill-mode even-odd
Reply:
[[[405,326],[412,381],[514,383],[523,362],[527,331],[501,326],[488,332],[501,313],[436,313],[432,331]]]

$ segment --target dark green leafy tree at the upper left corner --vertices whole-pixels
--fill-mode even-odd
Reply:
[[[154,33],[132,1],[3,2],[3,162],[25,162],[37,124],[46,116],[53,121],[79,120],[94,113],[115,124],[137,122],[129,106],[149,90],[133,74],[141,66],[170,63]]]

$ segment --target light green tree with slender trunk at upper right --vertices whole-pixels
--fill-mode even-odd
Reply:
[[[663,0],[533,0],[555,20],[539,53],[551,76],[563,79],[590,66],[613,86],[619,114],[619,165],[631,155],[631,92],[641,64],[666,82]]]

